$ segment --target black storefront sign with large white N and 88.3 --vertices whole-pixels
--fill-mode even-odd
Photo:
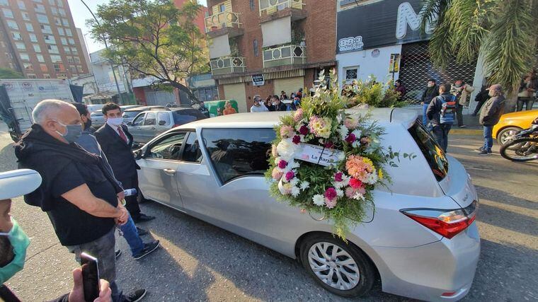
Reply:
[[[384,0],[339,11],[338,53],[428,40],[433,27],[428,23],[421,33],[421,2]]]

